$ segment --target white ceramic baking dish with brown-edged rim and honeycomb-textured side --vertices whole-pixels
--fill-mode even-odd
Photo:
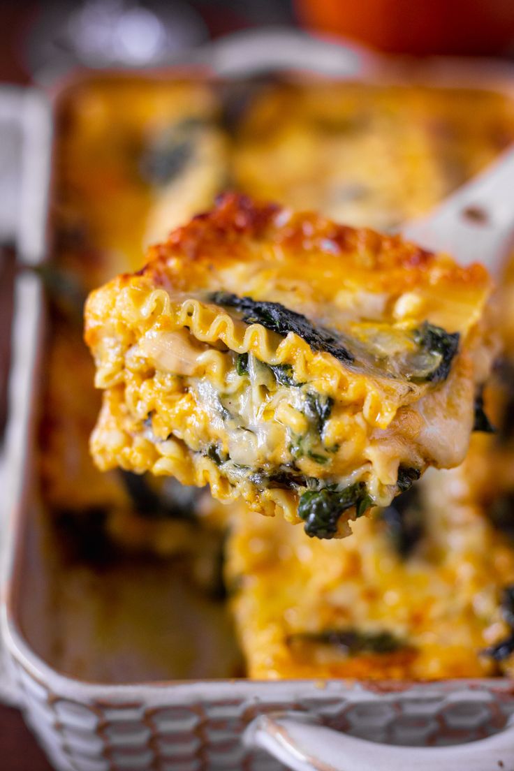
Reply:
[[[357,49],[327,48],[304,35],[282,32],[232,38],[198,53],[193,63],[215,76],[287,66],[381,81],[401,80],[405,66],[412,77],[415,69],[409,62],[386,64]],[[424,82],[480,83],[514,94],[510,66],[435,60],[418,70]],[[22,258],[33,264],[45,255],[52,112],[38,95],[32,95],[27,96],[22,118],[28,135],[19,245]],[[514,746],[514,739],[502,739],[503,744],[500,739],[492,744],[484,739],[502,729],[514,712],[514,686],[506,679],[389,684],[244,679],[162,682],[158,678],[123,682],[116,675],[109,682],[94,674],[79,678],[56,666],[59,655],[49,643],[55,641],[57,624],[57,616],[49,613],[55,575],[49,564],[52,554],[45,517],[33,484],[45,308],[39,281],[29,271],[19,276],[16,292],[3,495],[8,537],[2,635],[8,671],[2,674],[2,684],[7,685],[8,678],[14,683],[18,703],[56,769],[230,771],[274,769],[286,763],[294,769],[328,771],[348,769],[345,757],[348,762],[353,758],[351,768],[361,771],[411,764],[420,769],[438,766],[440,771],[450,766],[479,771],[512,765],[508,749]],[[87,586],[82,589],[87,594]],[[76,595],[77,604],[86,602],[85,594]],[[80,608],[75,618],[78,621],[67,628],[67,634],[74,639],[79,655],[87,657],[99,641],[93,634],[84,635]],[[86,666],[84,671],[91,669]],[[305,715],[325,727],[307,724]],[[332,729],[329,733],[327,726]],[[341,745],[341,732],[398,748],[379,749],[365,742],[355,749]],[[464,747],[448,749],[449,754],[434,748],[422,756],[412,755],[406,747],[472,739],[482,740],[474,745],[475,765]]]

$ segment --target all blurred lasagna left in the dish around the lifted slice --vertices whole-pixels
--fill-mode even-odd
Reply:
[[[132,573],[139,571],[139,553],[143,560],[149,555],[157,594],[160,566],[172,561],[179,618],[190,611],[180,580],[185,574],[223,608],[224,559],[246,662],[241,675],[512,675],[510,365],[502,365],[493,400],[485,394],[496,434],[473,433],[464,465],[431,470],[391,506],[361,517],[353,537],[328,541],[247,512],[241,501],[231,512],[207,489],[182,488],[170,477],[96,469],[87,444],[99,392],[81,340],[82,295],[140,268],[144,243],[164,241],[224,188],[316,209],[356,227],[398,227],[514,141],[512,98],[482,89],[333,79],[248,87],[231,81],[219,89],[198,80],[95,74],[67,89],[58,113],[55,241],[45,275],[51,327],[39,433],[49,528],[73,530],[88,560],[101,552],[116,563],[128,553]],[[244,286],[232,291],[250,294]],[[502,337],[512,340],[512,276],[509,292],[500,321]],[[451,322],[447,330],[454,331]],[[92,570],[99,596],[106,594],[98,634],[110,640],[114,595],[94,560]],[[59,581],[66,584],[68,576]],[[145,614],[136,603],[126,613],[136,630],[144,628],[149,645],[162,648],[153,604],[146,605]],[[173,615],[163,624],[173,625]],[[230,632],[209,612],[201,634],[210,641],[227,635],[230,646]],[[135,648],[137,635],[128,638]],[[176,676],[174,662],[187,646],[165,639],[169,673]],[[188,655],[193,649],[192,641]],[[233,676],[223,667],[215,676]]]

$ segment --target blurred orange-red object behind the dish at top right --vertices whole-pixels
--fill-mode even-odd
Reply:
[[[514,0],[297,0],[301,23],[382,51],[498,54],[514,49]]]

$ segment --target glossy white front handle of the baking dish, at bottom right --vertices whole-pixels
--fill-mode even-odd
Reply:
[[[319,725],[302,712],[259,715],[243,736],[293,771],[492,771],[514,767],[514,726],[466,744],[405,747],[378,744]]]

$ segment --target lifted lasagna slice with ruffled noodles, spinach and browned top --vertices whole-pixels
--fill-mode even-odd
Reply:
[[[347,535],[464,458],[490,291],[479,265],[227,194],[89,296],[92,456]]]

